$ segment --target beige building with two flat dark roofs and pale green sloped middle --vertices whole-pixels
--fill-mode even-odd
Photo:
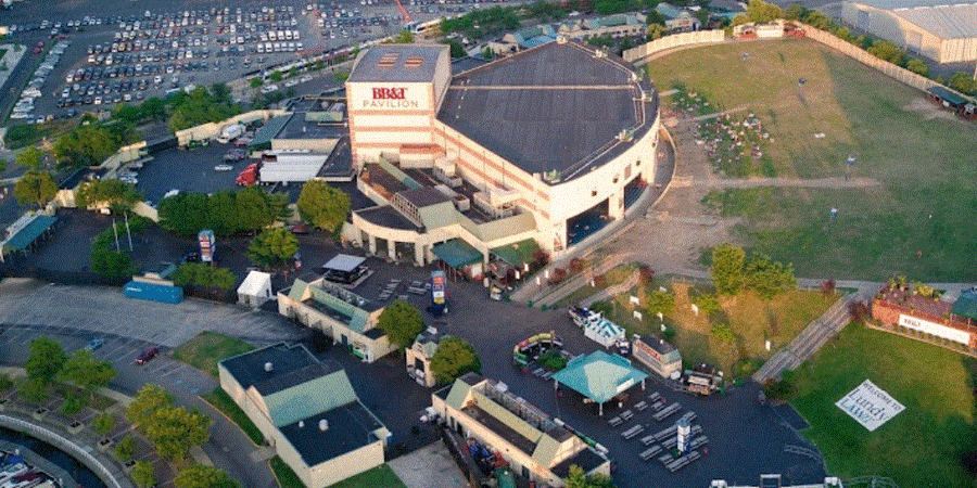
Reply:
[[[359,401],[346,372],[284,343],[225,359],[220,388],[307,488],[384,462],[390,432]]]

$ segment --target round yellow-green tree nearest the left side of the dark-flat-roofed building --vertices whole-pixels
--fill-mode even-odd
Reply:
[[[207,441],[210,426],[211,418],[203,413],[166,406],[153,410],[140,424],[140,431],[153,442],[160,455],[176,461],[186,458],[190,448]]]

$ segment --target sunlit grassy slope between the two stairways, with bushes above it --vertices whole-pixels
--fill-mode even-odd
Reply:
[[[683,361],[715,364],[726,374],[735,373],[734,364],[738,360],[761,360],[762,363],[838,299],[838,295],[834,294],[795,290],[764,303],[756,293],[744,292],[734,297],[720,298],[722,311],[707,317],[703,311],[698,316],[691,311],[690,297],[703,292],[701,285],[694,287],[673,283],[670,291],[675,301],[673,310],[664,313],[664,323],[675,331],[671,342],[682,351]],[[637,287],[633,293],[647,309],[645,294]],[[609,319],[624,326],[629,334],[660,334],[658,317],[647,311],[642,320],[634,317],[630,294],[614,297],[613,304],[614,311]],[[736,336],[733,344],[713,337],[712,325],[716,323],[729,325]],[[765,347],[767,339],[771,342],[770,351]]]

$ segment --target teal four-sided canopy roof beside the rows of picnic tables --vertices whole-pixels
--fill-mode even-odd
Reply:
[[[601,350],[573,358],[562,371],[553,375],[558,383],[604,403],[621,391],[648,377],[634,369],[631,361]]]

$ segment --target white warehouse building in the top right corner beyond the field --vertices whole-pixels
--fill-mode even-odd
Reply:
[[[846,0],[841,18],[938,63],[977,60],[973,0]]]

